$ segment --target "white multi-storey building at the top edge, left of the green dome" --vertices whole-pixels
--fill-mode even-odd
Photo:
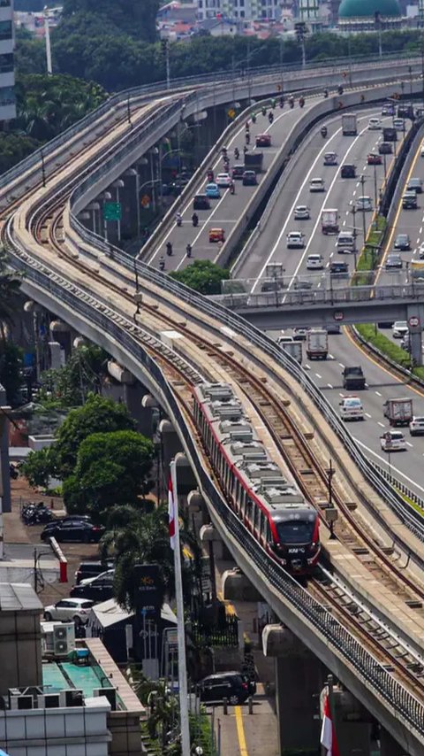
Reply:
[[[216,16],[231,21],[280,19],[281,0],[197,0],[198,20]]]

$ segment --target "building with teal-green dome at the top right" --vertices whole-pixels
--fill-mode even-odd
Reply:
[[[338,9],[341,31],[382,31],[402,25],[398,0],[342,0]]]

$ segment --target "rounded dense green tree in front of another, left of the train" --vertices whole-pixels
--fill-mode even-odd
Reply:
[[[94,433],[79,445],[77,464],[64,481],[69,512],[102,519],[113,505],[136,504],[148,488],[154,445],[134,430]]]

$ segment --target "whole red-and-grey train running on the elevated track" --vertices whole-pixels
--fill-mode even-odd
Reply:
[[[288,470],[271,459],[229,384],[193,389],[194,420],[228,504],[292,575],[310,575],[320,551],[319,515]]]

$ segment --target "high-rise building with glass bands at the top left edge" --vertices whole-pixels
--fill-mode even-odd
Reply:
[[[0,121],[16,116],[13,0],[0,0]]]

